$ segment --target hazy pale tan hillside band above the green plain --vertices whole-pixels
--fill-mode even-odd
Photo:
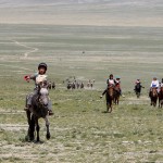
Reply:
[[[163,0],[0,0],[0,23],[163,26]]]

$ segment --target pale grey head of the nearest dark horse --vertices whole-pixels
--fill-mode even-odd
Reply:
[[[48,108],[49,103],[49,91],[48,91],[48,85],[47,84],[41,84],[39,85],[39,103],[43,108]]]

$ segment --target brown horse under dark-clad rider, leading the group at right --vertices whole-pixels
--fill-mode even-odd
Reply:
[[[112,104],[114,100],[114,87],[109,86],[105,93],[105,100],[106,100],[106,112],[112,112]]]

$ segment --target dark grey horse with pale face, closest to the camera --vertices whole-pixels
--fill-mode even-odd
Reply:
[[[30,141],[35,140],[35,127],[37,131],[37,141],[39,141],[39,123],[38,120],[42,117],[46,121],[47,127],[47,139],[50,139],[50,131],[49,131],[49,120],[48,120],[48,85],[39,85],[38,86],[38,93],[32,98],[32,108],[26,111],[27,120],[28,120],[28,133],[27,139]]]

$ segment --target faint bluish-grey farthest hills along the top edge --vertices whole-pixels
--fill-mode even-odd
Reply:
[[[25,5],[62,5],[85,3],[108,3],[115,5],[161,5],[162,0],[0,0],[0,8],[25,7]]]

